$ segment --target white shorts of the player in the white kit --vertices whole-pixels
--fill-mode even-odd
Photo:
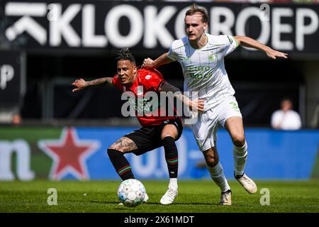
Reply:
[[[218,123],[225,128],[226,120],[232,116],[242,118],[234,96],[225,99],[212,109],[198,113],[198,119],[192,125],[192,129],[198,148],[201,151],[213,148],[217,140]]]

